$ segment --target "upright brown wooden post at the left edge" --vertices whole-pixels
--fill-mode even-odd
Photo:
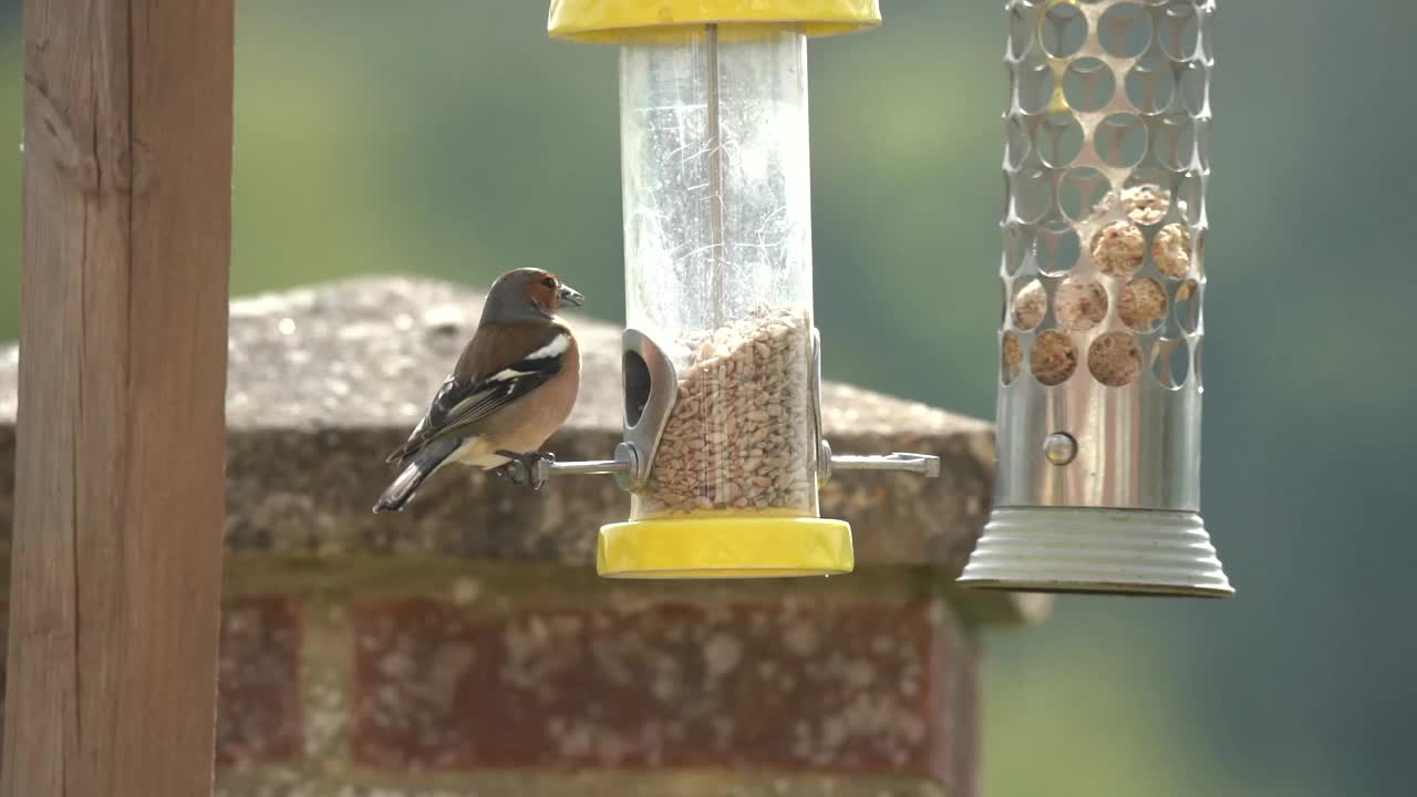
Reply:
[[[27,0],[4,797],[213,776],[232,0]]]

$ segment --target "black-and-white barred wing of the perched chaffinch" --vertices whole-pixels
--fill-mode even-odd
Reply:
[[[570,332],[557,328],[548,340],[530,355],[507,363],[480,377],[463,376],[463,363],[444,380],[424,416],[404,445],[388,455],[388,461],[402,461],[417,454],[434,440],[478,433],[482,421],[502,407],[524,397],[561,373],[570,349]],[[476,346],[479,342],[473,342]],[[462,373],[459,373],[462,372]]]

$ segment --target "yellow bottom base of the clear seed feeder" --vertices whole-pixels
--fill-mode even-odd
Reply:
[[[699,516],[601,528],[595,570],[609,579],[782,579],[856,566],[852,526],[822,518]]]

